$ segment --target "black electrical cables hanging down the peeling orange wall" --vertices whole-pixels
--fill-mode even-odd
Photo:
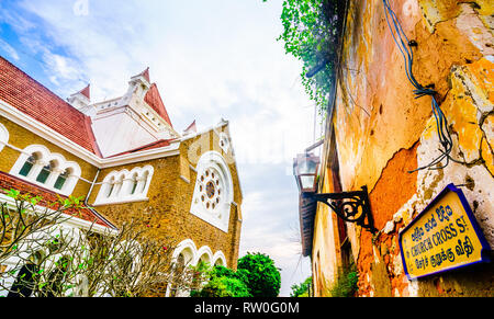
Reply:
[[[408,38],[406,37],[406,34],[403,32],[402,25],[400,24],[400,21],[394,11],[391,9],[389,1],[383,0],[382,2],[384,3],[384,13],[388,26],[390,27],[391,31],[391,35],[393,36],[393,39],[396,43],[405,60],[406,77],[408,78],[409,82],[415,87],[414,90],[415,99],[419,99],[425,95],[429,95],[433,99],[431,102],[433,114],[434,117],[436,118],[437,133],[439,136],[439,141],[442,146],[442,149],[439,149],[441,156],[433,160],[429,164],[413,170],[409,173],[420,171],[424,169],[429,170],[444,169],[449,164],[449,160],[452,160],[452,158],[450,157],[452,150],[452,139],[448,129],[448,119],[446,118],[445,114],[439,107],[439,104],[436,101],[435,95],[437,94],[437,92],[430,88],[423,87],[420,83],[418,83],[418,81],[415,79],[413,75],[412,65],[414,60],[414,53],[412,50],[412,46],[416,46],[416,43],[408,41]],[[446,164],[442,167],[437,167],[437,164],[440,163],[445,158]]]

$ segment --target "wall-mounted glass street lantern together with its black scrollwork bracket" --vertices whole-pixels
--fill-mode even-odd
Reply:
[[[315,202],[327,205],[345,221],[355,223],[375,233],[378,229],[375,229],[372,219],[367,186],[356,192],[317,194],[319,162],[319,158],[311,153],[299,155],[294,159],[293,174],[299,191],[304,194],[304,197],[311,197]]]

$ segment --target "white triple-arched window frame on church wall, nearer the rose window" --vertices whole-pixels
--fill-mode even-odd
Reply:
[[[94,206],[149,201],[150,182],[155,169],[151,166],[133,168],[131,171],[110,172],[101,183]]]

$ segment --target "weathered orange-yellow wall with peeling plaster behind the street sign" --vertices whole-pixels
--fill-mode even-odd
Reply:
[[[408,282],[397,235],[447,184],[468,184],[463,192],[494,246],[494,3],[390,1],[404,32],[418,44],[413,48],[415,78],[438,92],[458,161],[408,173],[440,155],[431,99],[415,99],[382,1],[350,2],[335,117],[340,176],[345,191],[368,185],[381,230],[372,238],[349,225],[359,295],[493,296],[489,265]]]

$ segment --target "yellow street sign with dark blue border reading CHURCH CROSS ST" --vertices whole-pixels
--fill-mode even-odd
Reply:
[[[405,227],[398,240],[408,280],[489,262],[491,248],[463,192],[453,184]]]

